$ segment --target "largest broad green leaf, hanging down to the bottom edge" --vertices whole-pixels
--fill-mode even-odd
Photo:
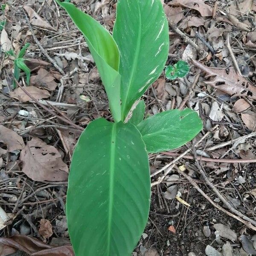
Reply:
[[[76,256],[131,256],[150,204],[148,156],[131,123],[91,122],[71,163],[67,223]]]

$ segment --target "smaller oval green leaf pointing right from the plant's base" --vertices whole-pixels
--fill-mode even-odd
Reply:
[[[178,148],[192,140],[203,128],[198,113],[174,109],[144,119],[138,126],[147,151],[157,153]]]

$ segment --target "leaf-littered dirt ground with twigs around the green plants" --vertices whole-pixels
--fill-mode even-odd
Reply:
[[[116,1],[71,2],[112,32]],[[166,65],[182,59],[190,71],[173,81],[162,73],[143,96],[146,116],[191,108],[204,128],[193,143],[149,155],[151,207],[133,256],[256,255],[256,2],[163,5]],[[53,0],[0,6],[0,206],[10,218],[0,222],[0,256],[73,255],[67,172],[86,125],[112,120],[108,99],[84,38]],[[15,57],[5,51],[17,54],[26,43],[31,78],[26,87],[21,72],[23,90],[15,89]],[[163,177],[158,171],[174,160]],[[52,166],[61,166],[58,178]]]

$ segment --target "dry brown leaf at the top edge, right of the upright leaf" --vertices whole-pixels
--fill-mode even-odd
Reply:
[[[212,16],[212,7],[204,3],[203,0],[173,0],[169,3],[169,5],[183,6],[189,9],[197,10],[203,17]]]

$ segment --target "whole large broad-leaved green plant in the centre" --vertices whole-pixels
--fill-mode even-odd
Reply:
[[[160,0],[119,0],[113,36],[73,4],[57,2],[87,41],[114,119],[90,122],[76,145],[67,191],[70,239],[76,256],[131,256],[148,220],[148,152],[180,147],[202,123],[189,109],[144,119],[143,101],[125,122],[166,64],[169,29]]]

